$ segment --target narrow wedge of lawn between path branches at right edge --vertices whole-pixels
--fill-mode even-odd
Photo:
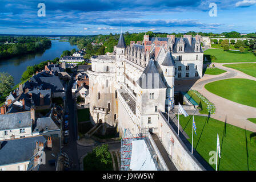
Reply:
[[[256,63],[224,64],[223,66],[237,69],[247,75],[256,77]]]

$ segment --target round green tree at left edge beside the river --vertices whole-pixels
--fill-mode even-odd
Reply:
[[[5,95],[11,92],[11,87],[14,85],[13,76],[9,73],[0,73],[0,94]]]

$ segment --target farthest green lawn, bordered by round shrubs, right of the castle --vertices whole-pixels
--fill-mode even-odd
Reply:
[[[216,60],[212,60],[215,63],[238,63],[238,62],[255,62],[256,56],[253,52],[239,51],[223,51],[222,49],[207,49],[204,52],[205,55],[214,55]]]

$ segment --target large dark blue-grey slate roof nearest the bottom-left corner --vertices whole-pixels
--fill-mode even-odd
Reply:
[[[43,136],[5,140],[1,143],[0,165],[25,162],[34,155],[35,143],[46,142]]]

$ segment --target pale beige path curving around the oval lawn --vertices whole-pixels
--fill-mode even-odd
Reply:
[[[256,63],[256,62],[255,62]],[[230,123],[231,125],[241,127],[253,132],[256,132],[256,124],[247,120],[247,118],[256,118],[256,108],[250,107],[237,102],[219,97],[205,89],[205,84],[213,81],[223,80],[227,78],[246,78],[256,81],[255,77],[246,75],[236,69],[223,67],[223,64],[238,64],[238,63],[214,63],[215,67],[223,69],[227,72],[221,75],[204,75],[200,80],[197,80],[191,89],[198,90],[216,107],[215,114],[211,114],[211,118],[219,121]]]

